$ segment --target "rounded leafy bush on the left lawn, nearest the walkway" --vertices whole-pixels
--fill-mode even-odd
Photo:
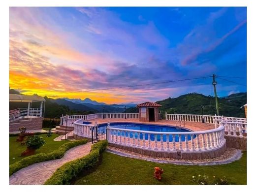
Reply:
[[[36,135],[29,136],[29,138],[26,141],[27,149],[24,152],[22,152],[21,156],[33,155],[35,150],[43,146],[44,143],[45,141],[43,140],[43,137],[38,137]]]

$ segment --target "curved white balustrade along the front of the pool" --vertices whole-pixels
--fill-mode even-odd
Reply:
[[[109,143],[118,143],[119,145],[132,146],[134,148],[150,149],[155,151],[175,152],[176,149],[187,152],[210,151],[219,149],[225,144],[224,126],[205,131],[155,132],[112,128],[110,125],[107,127],[107,132],[111,134],[111,136],[107,137]],[[126,132],[128,134],[126,134]],[[115,140],[113,139],[114,135]],[[135,138],[135,135],[137,138]],[[153,137],[151,138],[150,135],[154,135],[154,139]],[[132,145],[129,142],[130,139],[132,139]],[[153,148],[151,147],[151,142],[154,142]],[[176,142],[178,142],[178,146],[176,146]]]

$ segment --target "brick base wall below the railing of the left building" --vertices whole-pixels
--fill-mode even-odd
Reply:
[[[42,117],[33,117],[31,119],[22,119],[17,123],[9,124],[9,131],[19,131],[20,127],[26,127],[26,131],[41,129],[43,125]]]

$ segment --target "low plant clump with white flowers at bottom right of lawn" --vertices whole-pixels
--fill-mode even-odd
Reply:
[[[207,175],[198,175],[198,177],[192,176],[193,182],[195,182],[198,185],[229,185],[225,177],[220,179],[213,176],[213,178],[213,182],[209,182],[209,177]]]

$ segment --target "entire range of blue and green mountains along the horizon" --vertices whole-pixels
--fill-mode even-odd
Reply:
[[[10,90],[10,94],[20,94],[17,91]],[[123,104],[106,104],[91,100],[90,98],[82,99],[68,99],[68,98],[48,98],[44,97],[45,103],[45,117],[54,118],[62,114],[76,115],[76,114],[92,114],[103,113],[124,113],[125,106],[126,113],[138,113],[135,103]],[[145,101],[146,102],[146,101]],[[231,94],[229,96],[219,97],[219,111],[220,115],[230,117],[245,117],[244,109],[241,108],[247,103],[247,93]],[[202,108],[205,115],[215,115],[216,105],[215,97],[204,96],[198,93],[190,93],[175,98],[169,97],[157,103],[161,104],[160,111],[164,115],[167,113],[177,114],[201,114]],[[10,109],[27,107],[27,103],[10,102]],[[32,107],[39,107],[39,103],[33,103]]]

